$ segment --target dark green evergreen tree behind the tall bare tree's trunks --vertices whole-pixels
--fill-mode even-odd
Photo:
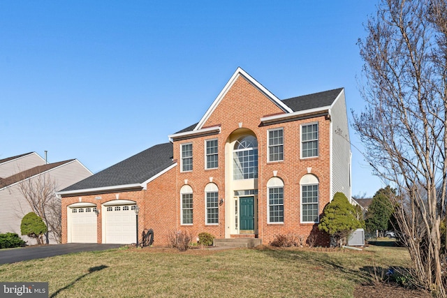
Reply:
[[[394,207],[390,197],[395,197],[396,190],[390,186],[381,188],[372,197],[372,202],[366,214],[366,228],[369,232],[383,231],[388,229],[390,218]],[[376,234],[377,235],[377,234]]]

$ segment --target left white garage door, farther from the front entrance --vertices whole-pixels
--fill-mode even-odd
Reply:
[[[96,207],[71,208],[71,242],[96,243]]]

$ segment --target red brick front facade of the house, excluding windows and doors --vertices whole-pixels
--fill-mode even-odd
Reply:
[[[165,246],[168,244],[168,234],[176,230],[191,230],[196,234],[210,232],[217,238],[245,237],[239,234],[233,215],[237,198],[234,195],[231,179],[232,169],[228,158],[232,158],[230,142],[237,133],[249,133],[256,136],[258,141],[258,179],[257,202],[255,204],[255,231],[250,237],[262,239],[268,244],[276,234],[293,233],[309,237],[317,235],[316,245],[327,246],[328,235],[318,232],[315,223],[301,223],[301,186],[300,179],[306,174],[313,174],[318,179],[318,211],[323,211],[331,197],[330,177],[330,120],[325,115],[316,117],[301,117],[293,121],[282,121],[276,124],[262,124],[261,119],[275,114],[285,114],[284,110],[266,96],[250,80],[238,76],[230,88],[219,99],[218,105],[204,119],[200,128],[219,127],[220,132],[204,133],[203,135],[173,135],[174,161],[177,166],[161,174],[147,184],[142,191],[126,191],[120,193],[99,195],[77,195],[62,199],[63,241],[67,242],[67,206],[76,202],[91,202],[101,209],[101,204],[110,200],[131,200],[138,204],[138,233],[152,228],[154,230],[154,244]],[[206,115],[205,115],[206,116]],[[302,124],[318,123],[318,157],[301,158],[300,127]],[[283,128],[284,131],[284,160],[268,162],[268,130]],[[218,140],[219,167],[212,170],[205,169],[205,140]],[[193,170],[182,172],[181,145],[191,143],[193,146]],[[284,223],[268,223],[268,181],[278,177],[284,182]],[[212,182],[219,188],[219,224],[207,225],[205,208],[205,187]],[[255,182],[256,183],[256,182]],[[181,223],[181,195],[180,188],[191,186],[193,190],[193,224]],[[230,190],[230,191],[229,191]],[[223,200],[221,200],[223,199]],[[97,234],[98,243],[103,242],[102,214],[98,214]],[[231,228],[233,227],[233,228]],[[232,232],[233,231],[233,232]]]

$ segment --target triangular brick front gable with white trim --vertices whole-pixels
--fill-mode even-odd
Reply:
[[[268,89],[254,80],[242,68],[237,68],[221,93],[214,100],[193,131],[227,124],[257,121],[270,114],[293,112]],[[228,117],[231,115],[231,117]]]

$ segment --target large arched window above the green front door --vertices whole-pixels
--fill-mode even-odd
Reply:
[[[258,178],[258,141],[253,135],[245,135],[233,149],[233,179],[254,178]]]

